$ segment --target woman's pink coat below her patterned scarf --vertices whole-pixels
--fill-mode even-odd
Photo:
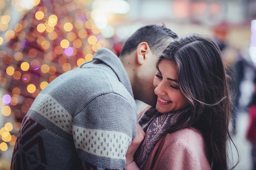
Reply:
[[[133,161],[126,170],[139,170]],[[191,128],[166,134],[148,156],[144,170],[211,170],[202,134]]]

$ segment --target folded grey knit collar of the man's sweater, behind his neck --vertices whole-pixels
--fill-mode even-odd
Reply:
[[[125,86],[133,97],[131,83],[127,72],[119,58],[109,49],[99,48],[93,56],[93,60],[98,59],[108,65],[117,75],[118,80]],[[134,97],[133,97],[134,98]]]

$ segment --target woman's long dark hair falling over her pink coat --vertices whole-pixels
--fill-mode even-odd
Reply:
[[[165,60],[177,64],[179,90],[192,110],[170,133],[188,127],[198,129],[206,142],[212,169],[227,170],[231,97],[221,50],[212,39],[192,34],[175,38],[157,65]]]

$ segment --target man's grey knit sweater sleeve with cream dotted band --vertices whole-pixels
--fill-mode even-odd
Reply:
[[[134,104],[135,105],[135,104]],[[136,136],[136,105],[115,93],[100,95],[73,119],[73,138],[84,169],[124,169]]]

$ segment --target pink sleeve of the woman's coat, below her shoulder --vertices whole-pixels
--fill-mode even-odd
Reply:
[[[186,142],[174,142],[160,159],[158,170],[200,170],[197,152]]]

